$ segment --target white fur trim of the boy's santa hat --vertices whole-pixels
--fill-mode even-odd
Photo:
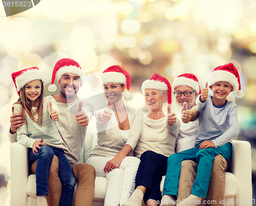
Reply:
[[[208,88],[214,85],[216,82],[228,82],[233,87],[233,91],[238,91],[238,79],[229,71],[217,70],[211,72],[208,80]]]

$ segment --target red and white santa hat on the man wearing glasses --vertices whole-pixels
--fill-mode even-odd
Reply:
[[[200,85],[197,77],[191,73],[184,73],[179,75],[173,82],[173,90],[175,90],[178,86],[188,86],[197,92],[197,94],[201,94]]]

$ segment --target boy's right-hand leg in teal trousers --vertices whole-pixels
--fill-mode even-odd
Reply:
[[[197,152],[198,171],[196,181],[193,185],[191,194],[206,198],[212,164],[217,155],[222,155],[225,159],[229,159],[232,155],[232,147],[228,142],[217,148],[200,149]]]

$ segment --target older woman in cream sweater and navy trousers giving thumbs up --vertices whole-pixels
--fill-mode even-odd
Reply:
[[[166,174],[167,159],[175,153],[175,142],[179,133],[180,121],[170,112],[172,89],[166,78],[155,73],[142,84],[145,102],[150,110],[144,117],[141,136],[134,150],[140,158],[136,175],[136,190],[121,206],[141,206],[142,199],[147,206],[158,205],[161,201],[160,183]],[[168,100],[168,115],[162,107]]]

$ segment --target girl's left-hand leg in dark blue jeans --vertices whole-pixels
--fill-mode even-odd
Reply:
[[[41,146],[38,149],[37,155],[34,155],[33,150],[29,149],[29,161],[36,163],[36,196],[48,195],[48,177],[52,164],[54,152],[49,146]]]

